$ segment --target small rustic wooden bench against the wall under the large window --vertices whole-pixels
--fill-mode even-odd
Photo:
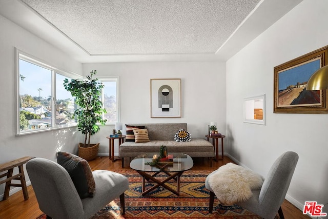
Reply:
[[[0,164],[0,173],[4,171],[8,171],[0,175],[0,178],[7,176],[5,180],[0,181],[0,184],[6,183],[3,200],[6,200],[9,197],[9,190],[11,186],[22,187],[24,200],[29,199],[29,194],[27,192],[27,187],[25,182],[23,164],[25,164],[26,162],[28,162],[33,158],[35,157],[25,156],[25,157],[18,158],[17,160],[7,162],[5,164]],[[18,167],[19,173],[16,175],[12,175],[15,167]],[[12,180],[20,180],[20,184],[12,184],[11,183]]]

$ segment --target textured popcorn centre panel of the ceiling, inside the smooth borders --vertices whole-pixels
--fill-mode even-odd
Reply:
[[[23,0],[90,54],[215,53],[260,0]]]

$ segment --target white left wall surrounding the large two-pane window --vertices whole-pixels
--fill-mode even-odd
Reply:
[[[0,164],[23,156],[45,157],[55,160],[58,150],[77,152],[81,135],[76,128],[15,136],[15,55],[14,47],[34,57],[43,59],[54,67],[81,74],[80,63],[67,57],[47,42],[27,32],[0,15]],[[17,168],[15,168],[17,169]],[[14,173],[18,172],[15,170]],[[29,181],[28,175],[26,180]],[[5,184],[0,185],[0,200]],[[17,187],[14,191],[17,190]]]

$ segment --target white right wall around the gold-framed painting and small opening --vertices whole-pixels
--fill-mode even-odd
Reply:
[[[328,45],[328,1],[304,0],[227,62],[227,149],[265,175],[285,151],[299,154],[286,198],[328,203],[327,114],[273,113],[274,67]],[[243,123],[243,98],[267,94],[267,125]]]

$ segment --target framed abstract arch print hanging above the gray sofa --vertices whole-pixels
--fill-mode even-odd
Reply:
[[[181,117],[181,79],[150,79],[151,117]]]

